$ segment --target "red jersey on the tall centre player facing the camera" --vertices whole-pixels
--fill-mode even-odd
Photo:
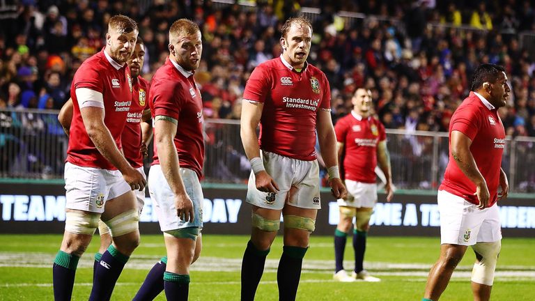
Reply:
[[[318,109],[331,107],[331,89],[323,72],[310,64],[297,72],[281,56],[254,69],[243,98],[264,104],[258,137],[261,149],[316,160],[316,115]]]

